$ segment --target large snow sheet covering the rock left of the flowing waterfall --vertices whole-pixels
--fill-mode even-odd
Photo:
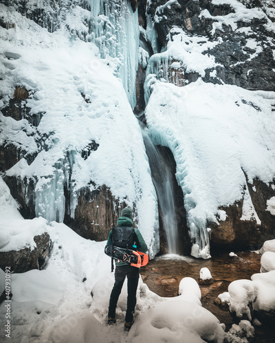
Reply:
[[[137,21],[137,12],[133,14],[126,1],[123,4],[123,13],[117,18],[123,25],[115,39],[123,38],[124,42],[135,34],[131,20]],[[30,117],[43,113],[37,128],[27,119],[16,121],[0,113],[3,128],[0,143],[14,143],[21,151],[37,155],[32,163],[27,161],[28,156],[21,158],[7,171],[7,176],[24,178],[25,192],[30,179],[34,181],[36,216],[49,222],[63,222],[64,188],[69,177],[73,180],[69,195],[71,217],[80,189],[89,187],[93,191],[106,185],[115,198],[135,206],[137,226],[153,257],[159,249],[157,198],[140,126],[126,96],[128,91],[125,93],[123,88],[125,63],[124,71],[115,78],[118,61],[112,62],[108,56],[100,60],[94,43],[72,38],[65,25],[54,33],[47,32],[11,8],[0,6],[3,20],[17,23],[16,29],[0,27],[2,101],[8,105],[15,86],[23,86],[30,93],[25,101]],[[81,22],[82,15],[76,6],[76,12],[67,20],[71,23],[74,17]],[[125,37],[127,27],[129,36]],[[28,30],[32,34],[26,35]],[[135,66],[137,54],[134,57],[129,53],[127,58],[131,68]],[[133,73],[132,69],[127,70],[127,75]],[[129,91],[128,96],[131,92],[135,93]],[[85,160],[81,152],[93,141],[99,145],[98,149]],[[28,196],[26,201],[28,204]]]

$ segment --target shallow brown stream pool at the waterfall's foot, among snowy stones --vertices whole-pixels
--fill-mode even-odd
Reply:
[[[199,285],[201,289],[201,303],[220,322],[223,322],[226,331],[234,324],[228,310],[222,310],[214,304],[217,296],[228,291],[228,285],[235,280],[250,279],[252,274],[259,273],[261,256],[254,252],[238,252],[238,257],[229,257],[223,253],[212,259],[195,259],[177,255],[163,255],[150,261],[141,268],[140,274],[151,291],[159,296],[177,296],[179,282],[186,276],[196,281],[199,271],[206,267],[212,274],[214,282],[210,285]],[[274,342],[274,328],[255,327],[255,336],[251,343]]]

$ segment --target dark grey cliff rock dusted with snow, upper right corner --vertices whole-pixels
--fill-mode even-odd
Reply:
[[[218,16],[225,17],[236,12],[230,4],[217,5],[211,0],[178,0],[171,2],[170,5],[166,2],[151,1],[147,8],[147,13],[155,25],[159,49],[165,49],[168,40],[173,40],[170,29],[180,27],[190,36],[200,35],[202,43],[203,36],[217,42],[212,49],[203,52],[213,56],[219,64],[215,69],[206,70],[203,81],[225,82],[247,89],[274,90],[274,32],[267,29],[267,17],[236,19],[234,29],[224,21],[221,28],[219,25],[219,28],[215,28],[219,23],[216,19]],[[263,11],[273,13],[268,9],[274,9],[274,3],[253,5],[252,1],[245,0],[243,3],[248,8],[261,5]],[[270,18],[273,18],[271,14]]]

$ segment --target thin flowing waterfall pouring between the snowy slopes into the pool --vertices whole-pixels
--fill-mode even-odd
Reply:
[[[152,180],[157,192],[157,200],[162,213],[162,222],[167,238],[168,254],[179,254],[177,215],[175,212],[175,193],[170,169],[164,156],[142,128],[144,145],[152,172]]]

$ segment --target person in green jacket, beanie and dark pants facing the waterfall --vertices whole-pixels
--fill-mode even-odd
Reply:
[[[132,222],[132,210],[129,207],[125,207],[121,211],[121,217],[118,218],[118,227],[124,228],[124,230],[130,230],[133,228]],[[115,228],[113,229],[115,233]],[[113,230],[109,233],[107,245],[112,244]],[[140,252],[147,252],[146,243],[137,228],[133,228],[133,238],[129,249],[137,250]],[[127,276],[128,279],[128,297],[127,297],[127,310],[125,316],[124,329],[129,331],[133,325],[133,314],[135,312],[135,304],[137,303],[137,283],[140,277],[140,268],[133,267],[122,261],[115,261],[115,283],[111,291],[108,311],[108,324],[115,324],[115,308],[118,303],[118,298],[124,283],[124,279]]]

